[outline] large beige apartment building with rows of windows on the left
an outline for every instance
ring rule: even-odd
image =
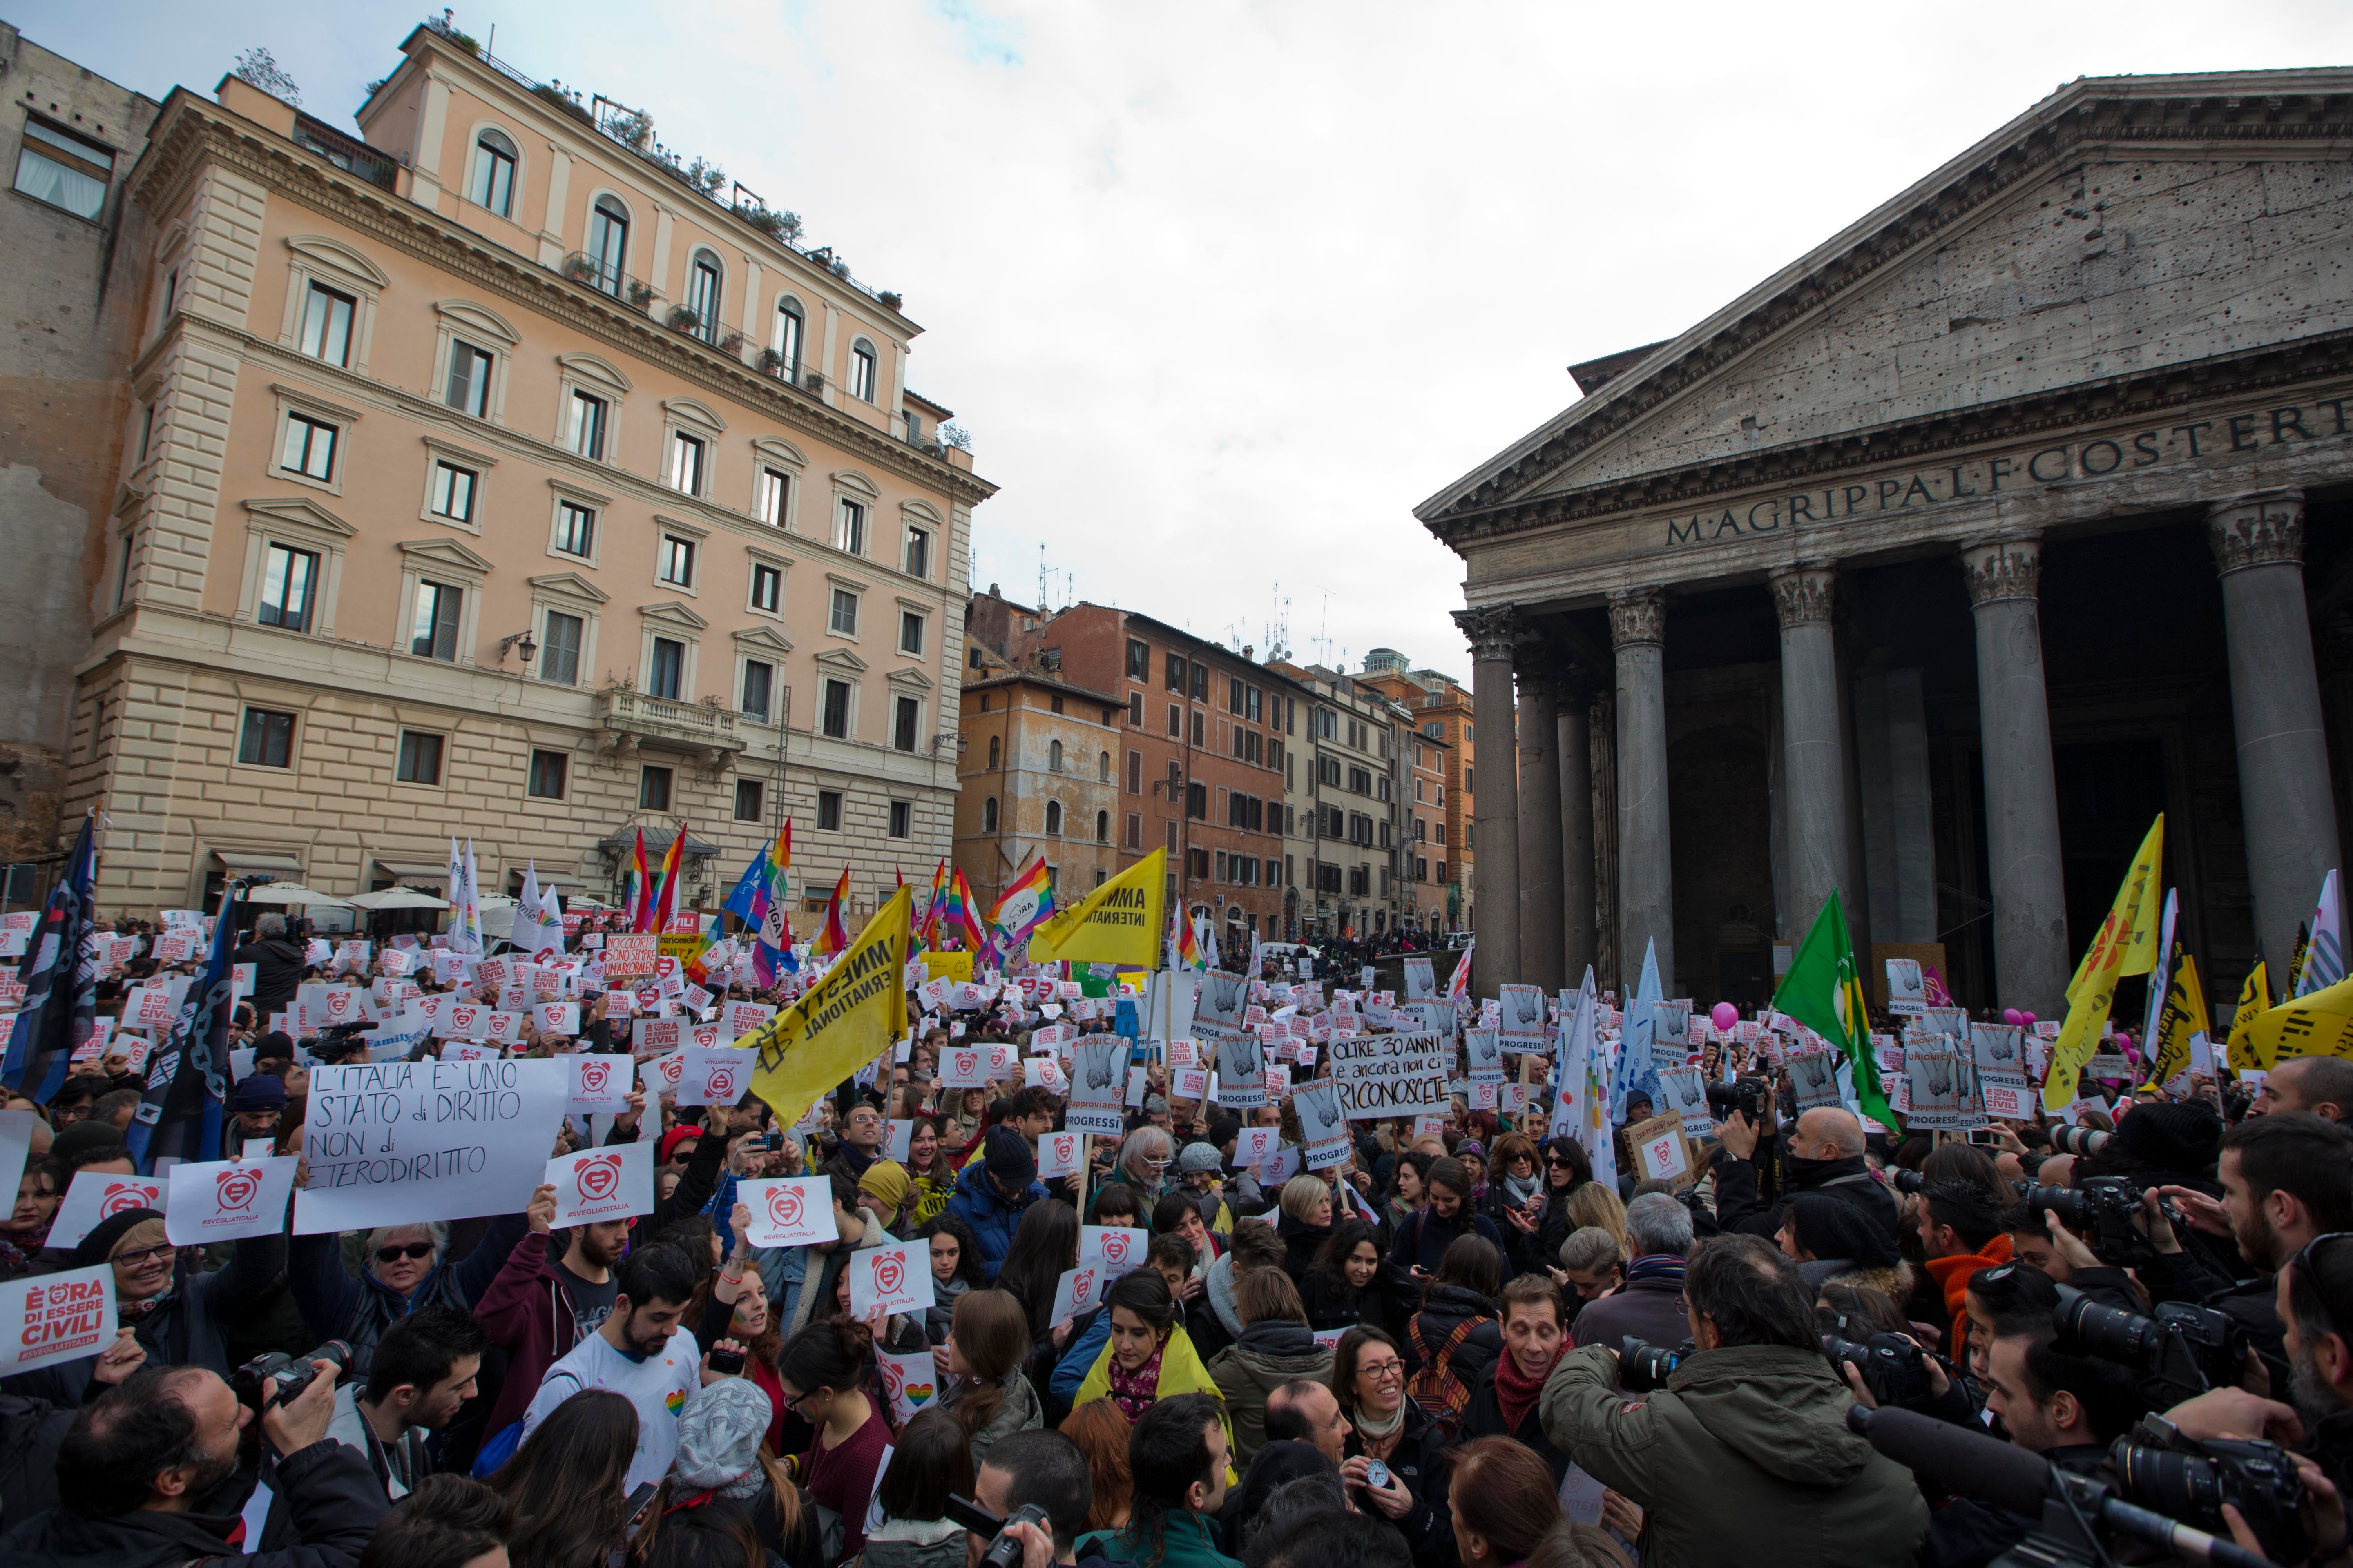
[[[920,331],[795,223],[440,26],[348,136],[176,89],[68,811],[99,900],[271,870],[715,903],[793,818],[854,914],[948,853],[972,508]],[[955,433],[948,433],[951,440]],[[496,870],[494,870],[496,867]],[[805,907],[807,907],[805,903]]]

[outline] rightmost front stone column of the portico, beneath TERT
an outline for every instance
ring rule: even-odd
[[[2238,804],[2247,823],[2254,936],[2271,985],[2287,980],[2297,922],[2339,860],[2337,799],[2320,726],[2313,625],[2304,609],[2304,491],[2273,489],[2207,510],[2231,642]]]

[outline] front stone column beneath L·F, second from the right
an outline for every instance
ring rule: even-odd
[[[1984,743],[1993,976],[2000,990],[1991,1001],[2059,1018],[2073,964],[2035,602],[2042,583],[2040,534],[1962,541],[1960,567],[1977,616],[1977,729]]]

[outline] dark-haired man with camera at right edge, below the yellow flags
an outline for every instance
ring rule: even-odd
[[[2198,1302],[2238,1321],[2271,1368],[2271,1394],[2285,1396],[2292,1368],[2278,1312],[2280,1265],[2313,1237],[2353,1229],[2353,1128],[2313,1112],[2278,1112],[2240,1121],[2221,1140],[2221,1199],[2193,1187],[2158,1187],[2141,1199],[2141,1222],[2155,1255],[2141,1267],[2153,1302]],[[2160,1208],[2238,1244],[2259,1274],[2233,1281],[2181,1246]]]

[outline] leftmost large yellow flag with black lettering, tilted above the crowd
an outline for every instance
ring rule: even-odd
[[[901,886],[809,994],[739,1041],[760,1053],[751,1091],[784,1126],[906,1034],[911,907]]]

